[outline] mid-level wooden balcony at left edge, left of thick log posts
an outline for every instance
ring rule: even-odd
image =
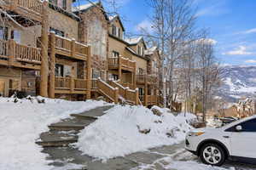
[[[41,49],[0,39],[0,65],[40,70]]]

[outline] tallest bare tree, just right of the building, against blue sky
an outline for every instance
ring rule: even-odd
[[[152,29],[150,32],[142,29],[142,32],[152,42],[157,43],[161,51],[161,91],[166,106],[166,80],[171,82],[170,96],[173,98],[174,65],[184,55],[182,47],[190,42],[195,31],[196,17],[189,0],[148,0],[148,3],[153,8],[153,15],[149,18]]]

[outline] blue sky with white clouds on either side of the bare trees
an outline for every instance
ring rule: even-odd
[[[148,27],[147,0],[117,0],[127,32]],[[208,28],[226,65],[256,65],[256,0],[195,0],[197,26]]]

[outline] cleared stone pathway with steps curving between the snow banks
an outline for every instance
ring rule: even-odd
[[[104,111],[111,107],[102,106],[80,114],[71,114],[71,118],[49,125],[49,132],[42,133],[37,144],[44,146],[43,152],[49,155],[47,159],[52,161],[49,164],[53,166],[52,170],[165,170],[165,165],[172,163],[166,161],[166,157],[171,157],[173,161],[198,161],[196,156],[183,149],[183,143],[137,152],[109,159],[107,162],[82,155],[72,145],[78,141],[79,130],[95,122],[98,116],[104,115]],[[256,166],[237,163],[234,165],[233,162],[228,162],[224,167],[236,167],[237,170],[256,169]]]

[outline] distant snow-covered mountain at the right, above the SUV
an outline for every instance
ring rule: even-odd
[[[218,96],[236,102],[242,97],[256,97],[256,66],[224,66],[223,84]]]

